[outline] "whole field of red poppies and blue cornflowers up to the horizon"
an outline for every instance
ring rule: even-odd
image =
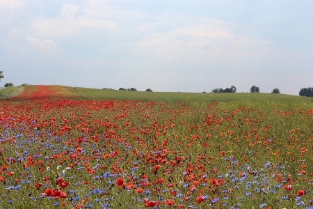
[[[312,98],[30,85],[0,98],[0,208],[313,208]]]

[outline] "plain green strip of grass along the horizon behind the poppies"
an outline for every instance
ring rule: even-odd
[[[209,102],[232,101],[300,101],[312,102],[312,98],[296,95],[273,93],[180,93],[180,92],[146,92],[146,91],[119,91],[111,89],[81,88],[59,86],[63,88],[63,95],[83,98],[84,100],[143,100],[159,102],[188,101],[193,104],[207,104]]]

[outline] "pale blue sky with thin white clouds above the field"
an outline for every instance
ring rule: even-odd
[[[298,95],[313,1],[0,0],[0,86]]]

